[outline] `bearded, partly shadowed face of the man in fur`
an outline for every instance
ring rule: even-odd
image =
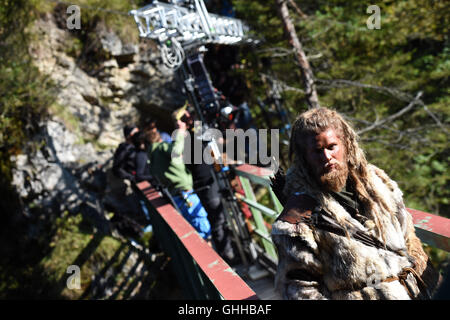
[[[345,186],[348,167],[345,146],[332,128],[306,137],[305,159],[320,185],[329,191]]]

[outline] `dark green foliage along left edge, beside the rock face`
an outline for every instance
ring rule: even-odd
[[[0,191],[17,199],[10,187],[10,158],[21,151],[45,117],[53,99],[51,83],[33,66],[25,31],[36,18],[36,1],[0,0]],[[1,204],[17,210],[17,201]]]

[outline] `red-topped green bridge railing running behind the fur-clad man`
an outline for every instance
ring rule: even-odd
[[[256,227],[255,234],[262,237],[266,253],[272,256],[274,248],[270,236],[268,236],[269,231],[267,225],[260,221],[258,222],[258,220],[261,219],[262,215],[267,216],[269,219],[273,219],[277,217],[283,209],[270,188],[269,177],[273,173],[268,169],[248,164],[240,165],[234,168],[234,171],[236,175],[239,176],[245,191],[245,196],[236,194],[236,197],[252,208],[254,225]],[[267,208],[256,201],[252,184],[264,186],[268,189],[275,210]],[[416,234],[422,242],[432,247],[450,252],[450,219],[415,209],[407,208],[407,210],[413,218]]]

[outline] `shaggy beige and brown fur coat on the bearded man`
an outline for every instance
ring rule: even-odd
[[[286,177],[285,194],[307,194],[330,212],[336,221],[345,221],[376,236],[371,220],[362,225],[334,198],[310,187],[306,179],[302,180],[301,174],[290,171]],[[306,223],[293,224],[278,219],[272,226],[271,235],[279,257],[275,285],[284,299],[409,300],[411,296],[423,299],[433,293],[439,273],[432,268],[415,235],[412,217],[403,204],[402,192],[381,169],[369,165],[369,172],[378,194],[383,195],[392,213],[390,217],[383,215],[381,223],[386,245],[396,252],[368,246]],[[374,210],[379,210],[377,205]],[[404,284],[398,278],[392,279],[403,268],[413,266],[426,283],[426,290],[421,290],[418,280],[411,273],[408,273]],[[389,278],[390,281],[386,281]]]

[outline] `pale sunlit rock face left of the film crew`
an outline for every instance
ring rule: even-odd
[[[104,200],[114,206],[108,170],[123,140],[122,128],[147,116],[168,124],[167,116],[184,103],[179,80],[162,66],[154,44],[124,43],[101,25],[78,54],[73,48],[81,40],[59,28],[50,14],[32,32],[36,40],[30,53],[54,83],[56,102],[33,138],[40,149],[13,159],[13,184],[24,203],[56,214],[83,212],[109,232]],[[88,61],[95,68],[86,68],[89,59],[82,57],[90,47],[98,49],[95,60]]]

